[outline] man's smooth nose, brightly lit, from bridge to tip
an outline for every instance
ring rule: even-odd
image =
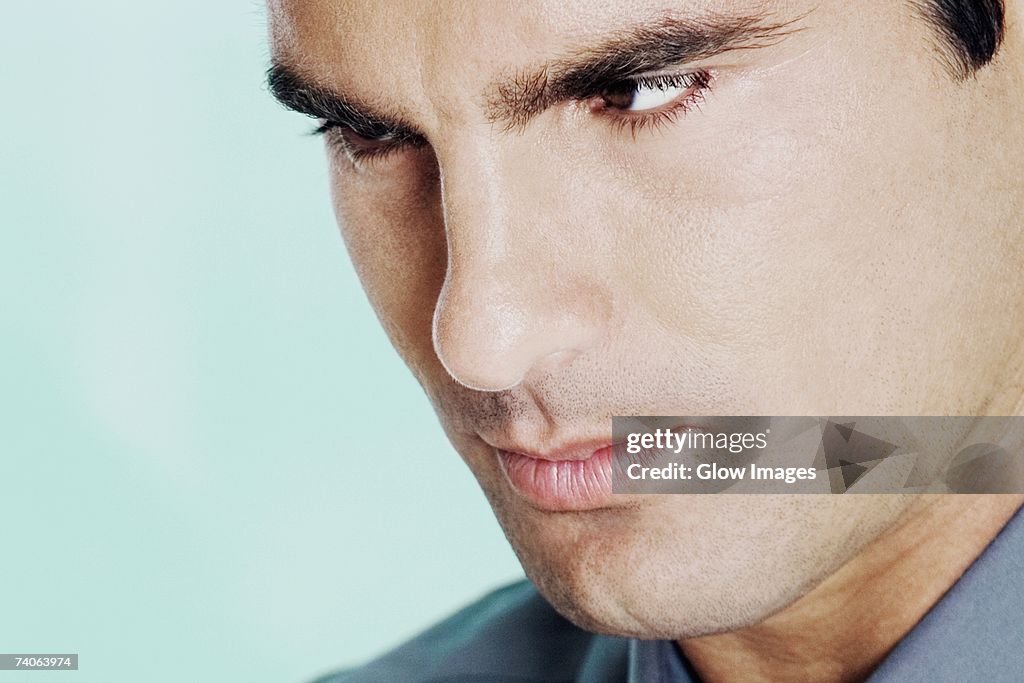
[[[605,333],[610,299],[599,250],[588,249],[595,226],[579,224],[571,183],[537,159],[463,148],[441,163],[449,258],[434,350],[472,389],[554,372]]]

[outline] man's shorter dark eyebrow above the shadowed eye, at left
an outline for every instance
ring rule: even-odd
[[[288,109],[351,128],[365,137],[416,134],[400,118],[319,86],[283,62],[274,61],[267,70],[266,84],[270,94]]]

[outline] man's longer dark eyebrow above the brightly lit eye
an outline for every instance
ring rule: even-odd
[[[492,123],[518,128],[555,102],[593,97],[616,81],[737,49],[767,47],[798,31],[806,14],[772,23],[766,14],[683,18],[662,15],[615,32],[597,45],[492,84]]]

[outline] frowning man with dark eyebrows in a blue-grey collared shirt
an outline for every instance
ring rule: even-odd
[[[1019,680],[1021,496],[595,463],[616,415],[1021,414],[1024,3],[269,9],[271,89],[531,583],[329,680]]]

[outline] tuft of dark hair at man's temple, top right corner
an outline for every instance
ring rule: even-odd
[[[944,61],[957,78],[987,65],[1002,42],[1002,0],[919,0],[942,37]]]

